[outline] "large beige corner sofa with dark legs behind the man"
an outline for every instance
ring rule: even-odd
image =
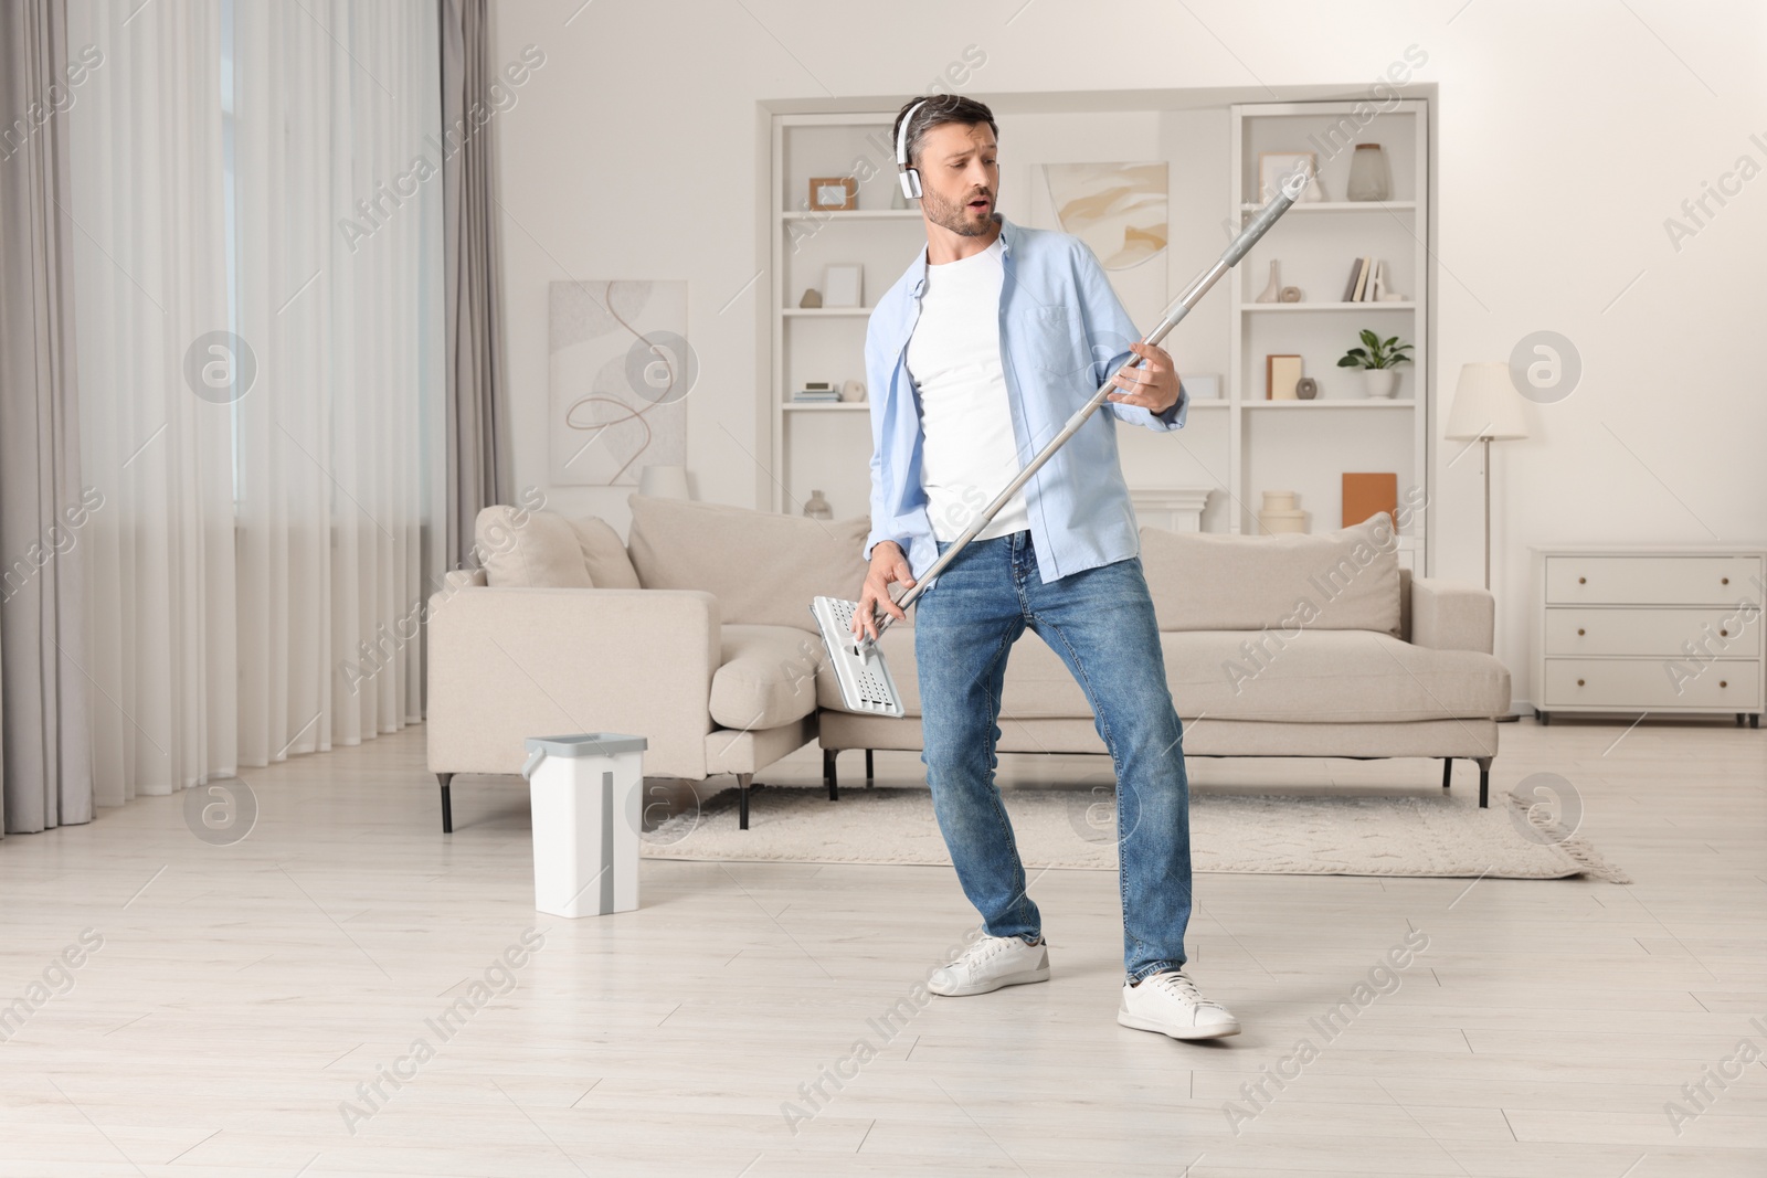
[[[912,613],[884,634],[906,719],[841,706],[809,599],[853,599],[864,519],[813,521],[633,496],[629,542],[599,519],[491,507],[484,567],[429,602],[429,768],[452,828],[456,774],[516,774],[527,736],[626,731],[647,777],[756,772],[818,740],[829,797],[845,749],[919,749]],[[1189,756],[1442,758],[1488,804],[1509,671],[1488,592],[1412,578],[1387,517],[1329,535],[1141,530]],[[1097,752],[1080,687],[1035,636],[1002,692],[1002,752]]]

